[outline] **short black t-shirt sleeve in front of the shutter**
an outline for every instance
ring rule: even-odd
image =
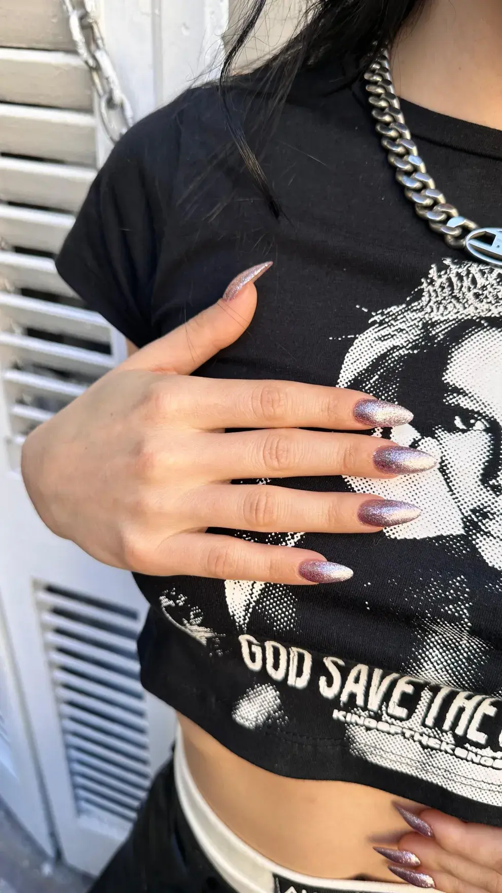
[[[60,276],[85,304],[138,347],[155,337],[151,300],[165,216],[158,188],[149,185],[155,183],[155,170],[147,162],[162,163],[164,176],[165,171],[175,176],[175,115],[165,129],[162,159],[151,143],[155,114],[121,138],[56,258]]]

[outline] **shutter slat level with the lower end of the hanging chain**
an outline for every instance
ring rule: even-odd
[[[96,121],[87,112],[0,103],[0,133],[4,153],[96,163]]]

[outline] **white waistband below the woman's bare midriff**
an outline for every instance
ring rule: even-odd
[[[416,887],[409,884],[381,883],[372,880],[330,880],[312,878],[306,874],[290,872],[257,853],[239,839],[206,803],[188,769],[183,739],[179,732],[174,751],[174,779],[181,808],[188,825],[211,864],[223,880],[237,893],[277,893],[274,875],[291,881],[288,893],[305,893],[304,888],[314,890],[345,890],[347,893],[412,893]]]

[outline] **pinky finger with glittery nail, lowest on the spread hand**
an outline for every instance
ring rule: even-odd
[[[328,562],[317,552],[287,546],[264,546],[213,533],[182,533],[166,543],[170,574],[219,580],[262,580],[292,585],[338,583],[353,571]],[[159,555],[156,556],[157,560]]]

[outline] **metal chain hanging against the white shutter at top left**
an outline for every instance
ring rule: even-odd
[[[132,125],[130,103],[121,91],[117,72],[106,52],[103,35],[88,0],[84,0],[84,6],[74,6],[73,0],[62,2],[77,53],[91,73],[99,100],[99,117],[108,137],[116,143]]]

